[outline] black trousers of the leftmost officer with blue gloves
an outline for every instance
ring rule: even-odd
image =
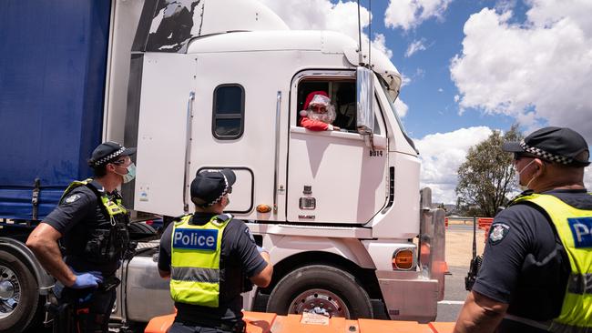
[[[58,298],[62,314],[54,319],[54,333],[107,333],[116,289],[64,288]]]

